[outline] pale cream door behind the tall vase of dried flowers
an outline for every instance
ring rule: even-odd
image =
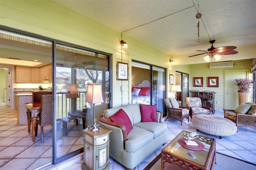
[[[248,78],[249,69],[224,71],[224,109],[236,109],[238,107],[238,92],[234,83],[235,79]]]

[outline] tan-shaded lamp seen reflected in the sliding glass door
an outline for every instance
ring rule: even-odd
[[[78,86],[77,84],[68,84],[67,98],[71,99],[71,112],[76,111],[76,98],[78,98]]]

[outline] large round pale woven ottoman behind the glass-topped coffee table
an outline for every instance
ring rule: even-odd
[[[191,120],[197,131],[202,131],[208,134],[222,136],[230,136],[237,131],[236,124],[232,121],[213,115],[195,115]]]

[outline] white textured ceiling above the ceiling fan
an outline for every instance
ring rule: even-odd
[[[256,44],[255,0],[58,0],[170,55]],[[200,42],[198,43],[198,19]],[[129,45],[129,42],[127,42]]]

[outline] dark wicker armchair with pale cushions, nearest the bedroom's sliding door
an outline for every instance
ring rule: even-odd
[[[167,119],[176,119],[181,122],[180,126],[182,126],[182,121],[184,118],[187,118],[189,121],[189,107],[186,106],[178,106],[178,102],[175,98],[164,98],[164,103],[167,109]]]

